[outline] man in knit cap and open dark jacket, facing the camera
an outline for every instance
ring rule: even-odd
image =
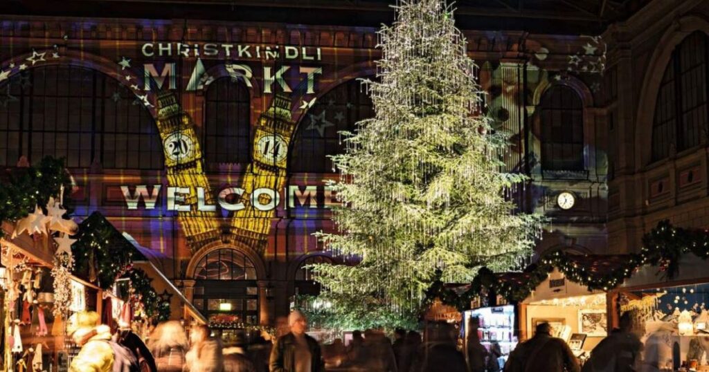
[[[271,372],[325,371],[320,345],[308,336],[308,319],[294,310],[288,316],[291,332],[279,337],[271,351]]]

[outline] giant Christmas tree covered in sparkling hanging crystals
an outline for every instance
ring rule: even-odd
[[[320,303],[355,322],[415,319],[437,276],[464,283],[481,266],[517,267],[540,234],[540,216],[510,201],[525,177],[501,171],[508,135],[481,114],[484,93],[450,6],[401,0],[396,11],[379,33],[377,79],[364,81],[376,115],[343,133],[346,151],[333,157],[337,232],[317,234],[358,262],[313,266]]]

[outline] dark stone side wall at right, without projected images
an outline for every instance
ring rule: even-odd
[[[709,4],[654,1],[604,33],[616,94],[608,121],[608,249],[634,252],[660,220],[709,225]]]

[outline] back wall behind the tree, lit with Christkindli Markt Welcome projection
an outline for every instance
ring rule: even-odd
[[[627,89],[610,89],[625,72],[609,75],[605,35],[466,35],[511,134],[506,167],[530,176],[520,209],[552,221],[537,250],[620,250],[606,181],[610,137],[625,137],[607,128]],[[0,166],[66,157],[75,216],[99,210],[154,250],[213,321],[275,324],[317,291],[303,265],[341,261],[312,234],[333,229],[338,131],[374,114],[357,79],[375,77],[376,42],[371,28],[8,16]]]

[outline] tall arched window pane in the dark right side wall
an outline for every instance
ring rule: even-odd
[[[699,145],[706,135],[709,113],[707,77],[709,37],[695,32],[672,52],[662,76],[652,123],[652,159]]]

